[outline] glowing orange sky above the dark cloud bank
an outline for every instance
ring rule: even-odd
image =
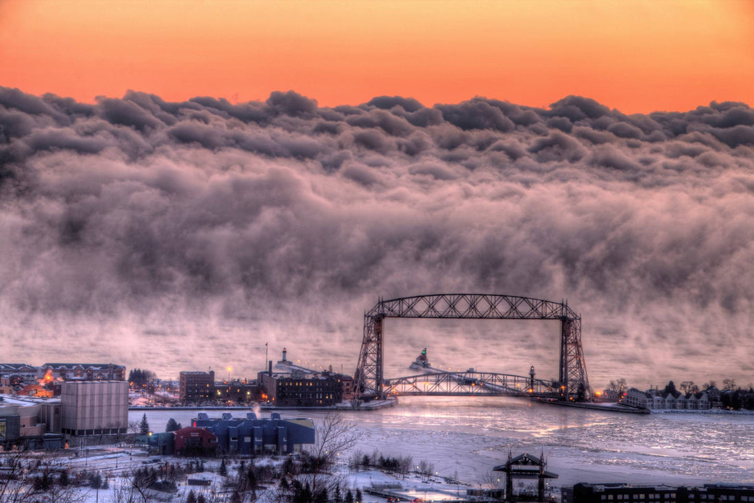
[[[0,0],[0,85],[87,102],[754,104],[754,2]]]

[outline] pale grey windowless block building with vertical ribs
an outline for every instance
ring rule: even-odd
[[[64,382],[60,395],[60,431],[70,435],[126,433],[128,383],[125,381]]]

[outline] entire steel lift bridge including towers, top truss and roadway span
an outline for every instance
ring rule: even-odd
[[[557,382],[499,373],[438,372],[385,379],[385,318],[452,318],[559,320],[560,358]],[[354,396],[382,400],[389,395],[527,395],[558,400],[589,400],[587,365],[581,349],[581,317],[566,302],[483,293],[441,293],[383,300],[364,314],[364,336]]]

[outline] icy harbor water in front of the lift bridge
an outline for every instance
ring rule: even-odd
[[[190,424],[201,409],[146,413],[153,431],[173,417]],[[206,411],[210,417],[222,411]],[[234,409],[234,416],[247,411]],[[285,417],[325,412],[283,410]],[[262,413],[266,416],[268,412]],[[754,483],[754,415],[714,413],[621,414],[532,403],[513,397],[403,397],[369,412],[346,411],[366,454],[411,455],[441,477],[497,483],[495,465],[513,455],[544,453],[555,485],[578,482],[701,484]],[[343,452],[345,462],[352,452]]]

